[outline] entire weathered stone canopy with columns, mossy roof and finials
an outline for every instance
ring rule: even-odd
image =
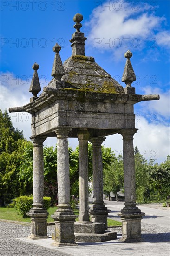
[[[78,138],[79,141],[79,221],[81,223],[75,224],[77,225],[75,230],[78,232],[81,229],[79,233],[82,233],[82,230],[98,230],[98,234],[104,233],[107,229],[108,209],[103,201],[101,144],[105,141],[105,136],[119,133],[123,137],[124,147],[125,206],[119,213],[123,222],[122,241],[139,242],[142,241],[141,218],[145,214],[141,213],[135,202],[133,135],[137,129],[135,129],[133,106],[140,101],[159,100],[159,95],[135,94],[135,88],[131,84],[136,80],[136,76],[131,65],[130,51],[124,54],[127,59],[122,76],[122,81],[126,84],[125,88],[100,67],[93,57],[85,56],[86,38],[84,33],[80,32],[83,16],[78,13],[73,20],[76,22],[74,25],[76,32],[72,34],[70,40],[72,56],[63,64],[59,55],[61,47],[56,44],[53,47],[55,57],[52,81],[43,88],[43,92],[38,97],[37,94],[41,90],[37,73],[39,65],[35,63],[29,90],[33,93],[33,97],[25,106],[9,108],[9,112],[24,111],[32,114],[34,202],[33,208],[28,213],[32,219],[30,238],[47,237],[48,213],[43,206],[43,142],[47,137],[56,136],[59,204],[52,215],[55,221],[53,244],[75,245],[75,237],[77,237],[76,241],[90,239],[90,235],[87,234],[74,237],[76,216],[70,208],[68,137]],[[94,202],[90,210],[88,208],[88,141],[92,142],[93,146]],[[84,225],[83,229],[82,225]],[[97,239],[94,234],[92,236]],[[103,239],[102,236],[98,237]],[[105,234],[106,240],[113,237],[115,234]]]

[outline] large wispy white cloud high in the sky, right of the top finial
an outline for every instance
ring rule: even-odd
[[[168,46],[169,33],[162,31],[162,24],[166,21],[164,17],[147,11],[147,3],[144,2],[139,2],[138,8],[131,2],[126,2],[126,7],[123,0],[118,2],[119,8],[108,1],[93,10],[90,21],[85,24],[90,31],[89,45],[111,50],[116,57],[128,48],[133,48],[133,51],[146,48],[149,42]]]

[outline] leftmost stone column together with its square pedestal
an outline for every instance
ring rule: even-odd
[[[44,194],[44,161],[43,142],[46,137],[31,137],[33,141],[33,207],[27,213],[31,217],[31,239],[48,238],[47,216],[48,212],[43,206]]]

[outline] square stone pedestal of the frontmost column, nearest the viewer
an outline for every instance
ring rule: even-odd
[[[60,205],[61,207],[61,205]],[[63,207],[63,206],[62,206]],[[74,222],[77,215],[74,215],[70,206],[66,205],[62,209],[57,209],[51,217],[55,221],[55,242],[52,244],[55,246],[68,246],[75,244],[74,241]],[[62,211],[64,210],[64,211]]]

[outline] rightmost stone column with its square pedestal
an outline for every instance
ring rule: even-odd
[[[142,213],[135,202],[135,160],[133,148],[133,135],[137,129],[123,129],[119,133],[123,136],[124,160],[124,208],[118,213],[122,219],[122,239],[124,242],[141,242]]]

